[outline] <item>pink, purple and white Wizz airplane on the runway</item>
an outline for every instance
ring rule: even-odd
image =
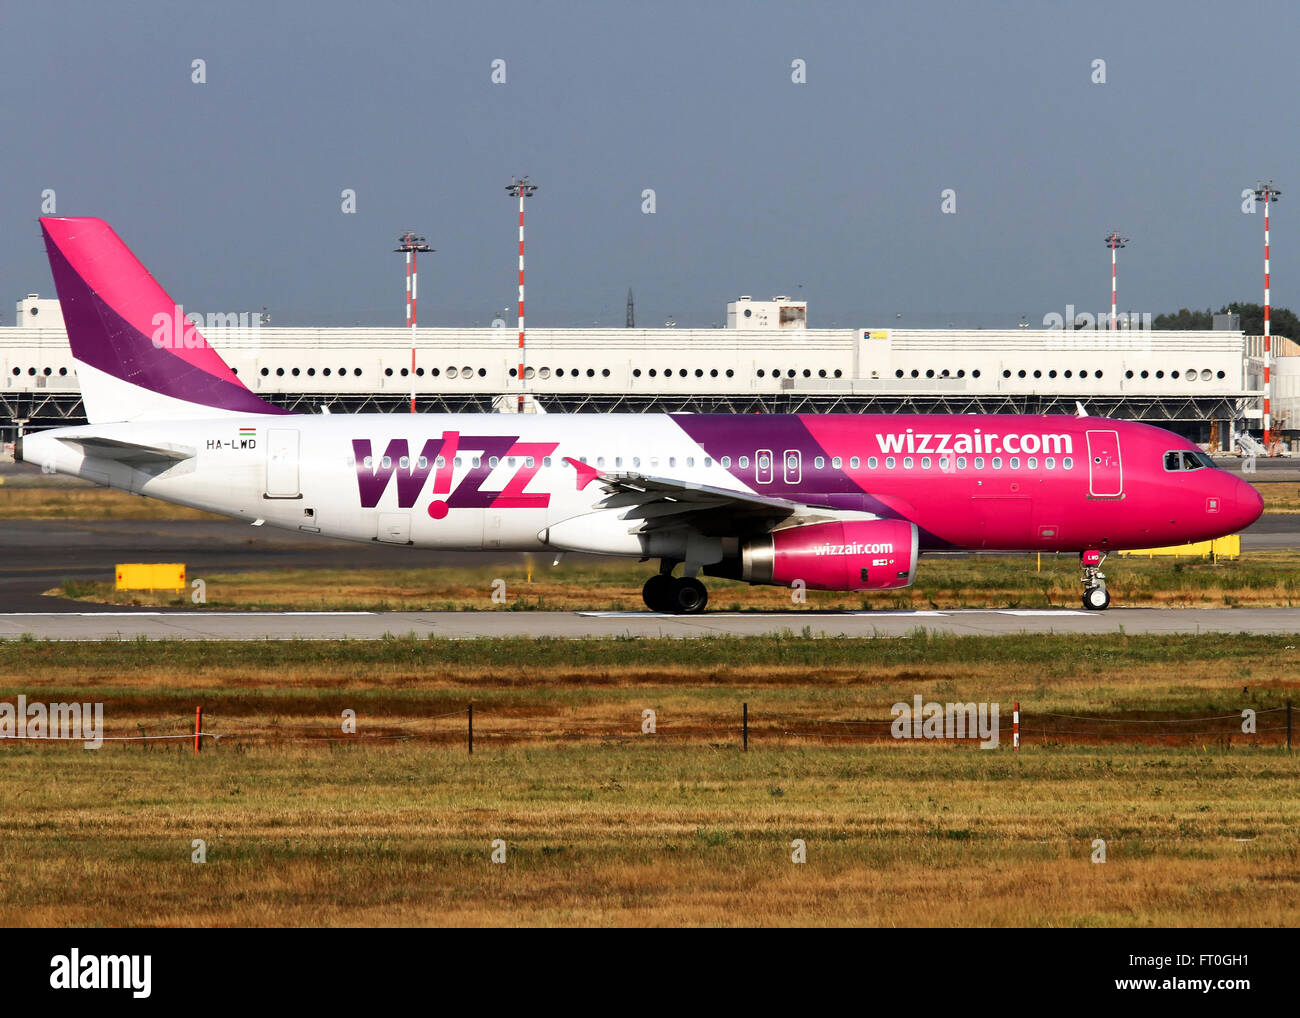
[[[178,306],[108,224],[40,224],[90,424],[29,434],[20,458],[252,524],[658,559],[646,606],[681,614],[703,611],[701,575],[890,590],[922,551],[1065,551],[1105,608],[1108,553],[1262,511],[1191,442],[1101,417],[291,413],[172,328]]]

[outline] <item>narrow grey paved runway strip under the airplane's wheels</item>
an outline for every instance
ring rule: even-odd
[[[86,607],[86,606],[81,606]],[[416,637],[815,636],[822,638],[907,637],[919,631],[958,636],[1011,633],[1300,633],[1290,608],[1110,608],[1104,612],[1043,611],[861,611],[861,612],[218,612],[58,611],[0,615],[0,638],[18,640],[382,640]],[[1297,637],[1300,642],[1300,637]]]

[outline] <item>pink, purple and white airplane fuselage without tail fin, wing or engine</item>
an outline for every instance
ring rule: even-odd
[[[105,442],[176,459],[117,456]],[[1191,442],[1100,417],[228,416],[42,432],[22,455],[237,519],[441,549],[640,554],[594,528],[588,542],[551,538],[550,528],[601,510],[597,475],[901,519],[928,550],[1150,547],[1234,533],[1262,508]]]

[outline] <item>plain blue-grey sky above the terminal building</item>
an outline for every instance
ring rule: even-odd
[[[1297,22],[1180,0],[8,0],[0,296],[52,294],[53,189],[190,309],[398,325],[411,228],[438,248],[421,324],[486,325],[514,307],[503,189],[528,173],[538,328],[623,325],[629,286],[638,325],[722,322],[741,293],[802,295],[814,326],[1039,325],[1109,308],[1112,229],[1121,309],[1260,300],[1240,191],[1271,177],[1273,298],[1295,307]]]

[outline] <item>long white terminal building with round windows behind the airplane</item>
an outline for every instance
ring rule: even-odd
[[[269,328],[205,321],[260,397],[302,412],[1075,413],[1231,450],[1262,429],[1262,339],[1239,330],[810,329],[807,306],[741,296],[725,329]],[[1300,438],[1300,347],[1274,339],[1273,428]],[[84,420],[58,302],[0,328],[8,432]]]

